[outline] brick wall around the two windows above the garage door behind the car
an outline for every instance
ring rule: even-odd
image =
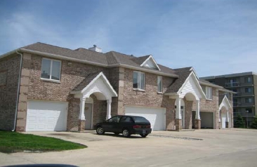
[[[173,79],[163,76],[163,92],[171,85]],[[173,129],[175,125],[175,100],[169,96],[157,93],[157,74],[145,73],[145,92],[133,90],[133,70],[125,69],[124,72],[124,106],[136,105],[142,107],[165,107],[166,127]]]

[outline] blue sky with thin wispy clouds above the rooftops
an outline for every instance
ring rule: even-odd
[[[38,41],[152,54],[198,76],[257,72],[257,1],[1,0],[0,55]]]

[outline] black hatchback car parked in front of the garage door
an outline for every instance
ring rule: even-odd
[[[124,137],[132,134],[139,134],[145,138],[152,132],[150,122],[143,116],[117,115],[107,121],[95,125],[96,133],[103,135],[105,132],[112,132],[116,135],[122,133]]]

